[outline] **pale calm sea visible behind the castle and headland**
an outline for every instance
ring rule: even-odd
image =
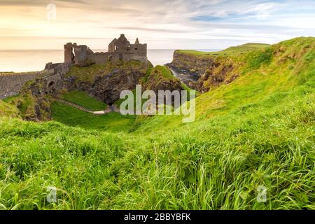
[[[106,52],[106,50],[94,50],[94,52]],[[172,49],[151,49],[148,50],[148,59],[154,66],[163,65],[172,62],[173,54]],[[0,50],[0,71],[41,71],[48,62],[63,61],[63,50]]]

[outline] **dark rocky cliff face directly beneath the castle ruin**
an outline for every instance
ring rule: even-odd
[[[64,77],[67,90],[81,90],[106,104],[113,104],[123,90],[134,90],[152,64],[125,62],[123,64],[73,67]]]

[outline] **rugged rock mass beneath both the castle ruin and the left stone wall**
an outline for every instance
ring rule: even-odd
[[[46,70],[59,67],[50,63]],[[70,70],[65,70],[69,72],[57,72],[27,82],[9,103],[19,109],[23,119],[33,121],[50,120],[50,105],[64,91],[81,90],[111,105],[123,90],[134,90],[151,67],[150,63],[142,62],[69,67]]]

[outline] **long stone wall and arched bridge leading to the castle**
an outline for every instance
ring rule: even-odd
[[[48,86],[55,90],[59,89],[61,76],[69,71],[71,63],[48,63],[43,71],[24,73],[0,73],[0,99],[12,97],[20,93],[20,90],[30,80],[44,78]]]

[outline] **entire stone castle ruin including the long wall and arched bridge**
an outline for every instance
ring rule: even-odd
[[[45,80],[47,83],[46,89],[60,90],[62,89],[62,76],[69,71],[73,64],[84,64],[84,62],[88,62],[87,64],[105,64],[107,62],[129,62],[131,60],[147,63],[146,50],[147,45],[139,43],[138,38],[134,44],[130,44],[124,34],[109,43],[108,52],[93,52],[87,45],[66,43],[64,45],[63,63],[48,63],[43,71],[0,75],[0,99],[18,94],[25,83],[36,78]]]

